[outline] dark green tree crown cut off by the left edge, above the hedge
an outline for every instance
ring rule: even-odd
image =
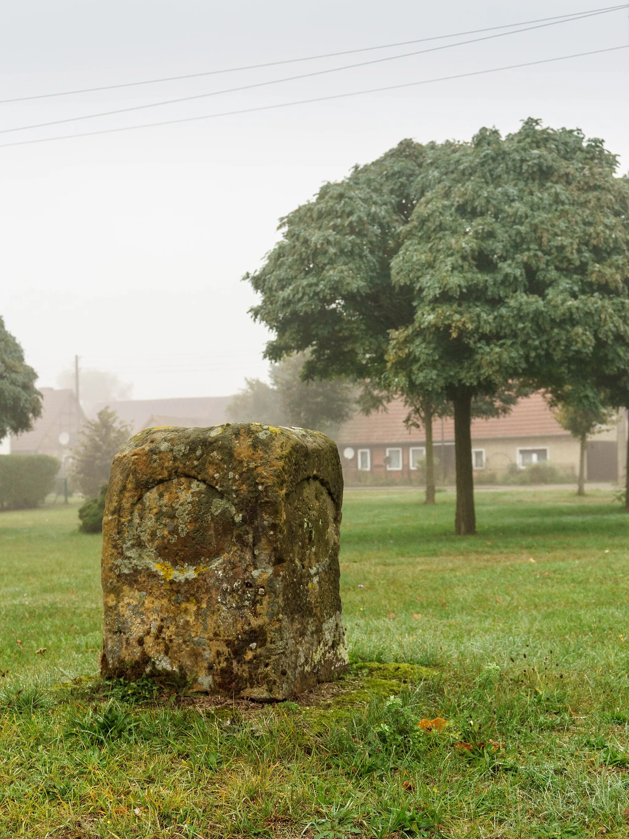
[[[0,317],[0,440],[33,427],[41,416],[42,395],[35,388],[37,373],[24,363],[22,347]]]

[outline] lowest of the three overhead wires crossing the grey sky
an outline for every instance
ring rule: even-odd
[[[367,93],[381,93],[383,91],[396,91],[403,87],[414,87],[418,85],[429,85],[436,81],[453,81],[455,79],[465,79],[469,76],[484,76],[487,73],[498,73],[502,70],[517,70],[522,67],[533,67],[534,65],[550,64],[554,61],[564,61],[572,58],[585,58],[586,55],[600,55],[602,53],[615,52],[616,50],[626,50],[629,44],[621,44],[617,47],[607,47],[605,50],[590,50],[590,52],[573,53],[572,55],[558,55],[555,58],[545,58],[537,61],[525,61],[522,64],[510,64],[503,67],[492,67],[491,70],[472,70],[469,73],[456,73],[453,76],[438,76],[434,79],[422,79],[420,81],[407,81],[400,85],[387,85],[385,87],[370,87],[364,91],[351,91],[350,93],[335,93],[331,96],[316,96],[312,99],[298,99],[294,102],[279,102],[276,105],[260,105],[257,107],[241,108],[237,111],[223,111],[218,113],[208,113],[201,117],[183,117],[181,119],[167,119],[162,122],[143,122],[141,125],[129,125],[123,128],[102,128],[99,131],[86,131],[78,134],[60,134],[57,137],[43,137],[34,140],[18,140],[15,143],[0,143],[0,149],[8,149],[11,146],[28,146],[34,143],[51,143],[55,140],[69,140],[79,137],[95,137],[97,134],[114,134],[122,131],[137,131],[138,128],[159,128],[164,125],[177,125],[180,122],[199,122],[203,119],[217,119],[218,117],[234,117],[245,113],[254,113],[260,111],[272,111],[277,108],[292,107],[294,105],[309,105],[313,102],[329,102],[333,99],[346,99],[349,96],[364,96]]]

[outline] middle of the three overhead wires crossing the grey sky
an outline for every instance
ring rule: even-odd
[[[620,8],[627,8],[626,6]],[[30,125],[20,125],[17,128],[3,128],[0,134],[10,134],[16,131],[28,131],[32,128],[50,128],[53,125],[64,125],[68,122],[81,122],[86,119],[96,119],[98,117],[113,117],[120,113],[129,113],[133,111],[144,111],[151,107],[164,107],[166,105],[176,105],[181,102],[194,102],[196,99],[206,99],[210,96],[221,96],[224,93],[237,93],[239,91],[250,91],[258,87],[268,87],[271,85],[278,85],[285,81],[299,81],[301,79],[314,78],[314,76],[327,76],[330,73],[338,73],[340,70],[353,70],[356,67],[366,67],[375,64],[383,64],[387,61],[394,61],[401,58],[409,58],[414,55],[425,55],[426,53],[437,52],[439,50],[450,50],[454,47],[465,46],[466,44],[477,44],[481,41],[488,41],[496,38],[504,38],[507,35],[515,35],[522,32],[531,32],[534,29],[544,29],[548,26],[557,26],[559,23],[572,23],[573,21],[584,20],[585,18],[592,18],[603,12],[591,12],[582,14],[579,17],[569,18],[569,20],[554,20],[551,23],[538,23],[535,26],[528,26],[524,29],[512,29],[510,32],[500,32],[492,35],[484,35],[482,38],[473,38],[466,41],[456,41],[454,44],[441,44],[438,47],[429,47],[426,50],[413,50],[413,52],[402,53],[400,55],[388,55],[385,58],[377,58],[369,61],[361,61],[358,64],[347,64],[341,67],[330,67],[326,70],[314,70],[311,73],[302,73],[299,76],[284,76],[282,79],[272,79],[270,81],[257,81],[252,85],[242,85],[238,87],[228,87],[221,91],[210,91],[209,93],[197,93],[194,96],[180,96],[176,99],[165,99],[161,102],[149,102],[146,105],[133,105],[131,107],[116,108],[112,111],[101,111],[97,113],[84,114],[81,117],[65,117],[65,119],[49,120],[48,122],[34,122]]]

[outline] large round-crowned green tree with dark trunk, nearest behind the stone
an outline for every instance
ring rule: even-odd
[[[387,357],[453,403],[457,533],[476,529],[473,399],[518,379],[564,387],[612,349],[629,368],[626,185],[615,169],[602,141],[532,119],[427,155],[392,261],[413,322],[392,332]]]

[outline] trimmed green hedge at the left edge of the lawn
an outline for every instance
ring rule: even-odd
[[[0,456],[0,509],[37,507],[55,489],[60,466],[49,455]]]

